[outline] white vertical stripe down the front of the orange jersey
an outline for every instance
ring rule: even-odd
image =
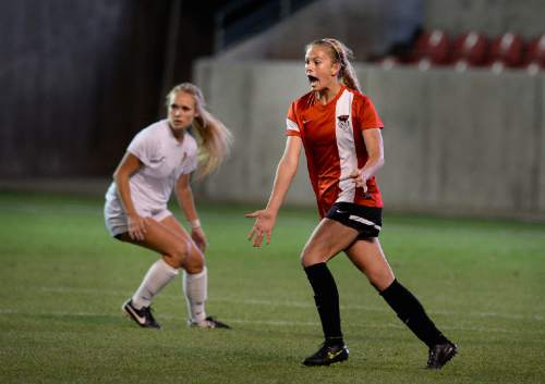
[[[339,150],[339,160],[341,175],[339,178],[339,197],[336,202],[354,202],[355,184],[349,175],[358,169],[358,154],[355,152],[354,134],[352,125],[352,100],[354,95],[344,89],[341,97],[337,100],[335,110],[335,134],[337,137],[337,149]]]

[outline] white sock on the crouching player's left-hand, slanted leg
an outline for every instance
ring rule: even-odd
[[[134,308],[149,307],[154,297],[177,275],[178,270],[165,260],[159,259],[153,263],[132,297]]]

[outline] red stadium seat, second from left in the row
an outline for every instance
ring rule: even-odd
[[[477,33],[469,32],[455,40],[452,61],[459,71],[468,66],[483,66],[488,59],[488,39]]]

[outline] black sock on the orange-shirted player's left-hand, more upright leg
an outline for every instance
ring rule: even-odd
[[[331,272],[329,272],[325,262],[306,267],[304,270],[314,289],[314,300],[318,309],[326,343],[342,344],[339,293]]]

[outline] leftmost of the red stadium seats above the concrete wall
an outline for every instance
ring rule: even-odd
[[[413,61],[419,66],[446,65],[450,61],[450,39],[440,29],[425,32],[414,45]]]

